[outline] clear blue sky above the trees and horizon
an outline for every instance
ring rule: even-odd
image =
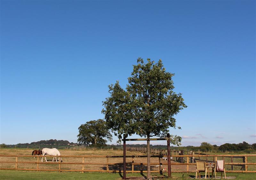
[[[188,108],[170,132],[183,146],[255,143],[255,5],[1,1],[0,143],[76,142],[81,124],[104,118],[108,85],[125,88],[138,57],[175,73]]]

